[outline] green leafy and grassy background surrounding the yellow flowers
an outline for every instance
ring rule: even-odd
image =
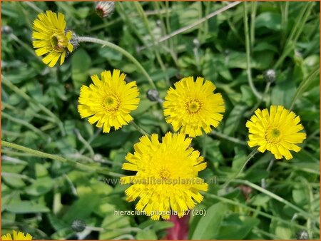
[[[168,83],[183,76],[204,76],[223,93],[222,123],[205,140],[193,140],[208,162],[201,176],[215,177],[217,183],[195,208],[207,214],[190,217],[190,238],[294,239],[303,230],[310,238],[319,238],[319,3],[248,3],[248,19],[241,3],[158,46],[140,48],[225,5],[121,2],[102,20],[93,2],[2,3],[1,139],[69,160],[1,148],[3,234],[16,229],[36,239],[160,239],[173,226],[144,216],[113,215],[115,209],[134,210],[134,204],[125,201],[127,187],[107,185],[106,178],[124,174],[121,164],[141,134],[132,125],[103,134],[76,110],[79,88],[90,83],[90,75],[119,68],[128,80],[138,82],[141,91],[141,103],[133,113],[136,123],[148,133],[163,135],[170,127],[161,106],[146,98],[151,86],[128,58],[93,43],[81,43],[61,67],[45,66],[32,48],[31,26],[39,12],[50,9],[65,14],[68,28],[79,36],[106,39],[133,54],[161,98]],[[140,6],[147,22],[139,14]],[[290,108],[296,96],[292,107],[301,117],[307,140],[290,161],[274,160],[270,153],[255,155],[238,179],[223,188],[251,152],[245,143],[245,122],[258,103],[248,84],[244,20],[249,24],[255,87],[265,91],[267,69],[274,68],[277,76],[259,107]],[[75,163],[99,171],[81,170]],[[74,220],[89,227],[76,233],[71,227]]]

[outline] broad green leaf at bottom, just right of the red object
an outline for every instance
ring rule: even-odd
[[[192,240],[214,240],[218,237],[218,230],[226,212],[226,205],[218,202],[206,210],[206,215],[200,220],[192,235]]]

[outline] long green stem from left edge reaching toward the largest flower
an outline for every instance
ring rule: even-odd
[[[89,166],[89,165],[84,165],[82,163],[77,163],[76,161],[68,160],[66,158],[63,158],[60,155],[52,155],[52,154],[49,154],[49,153],[43,153],[42,151],[34,150],[34,149],[31,149],[31,148],[26,148],[26,147],[24,147],[22,145],[17,145],[15,143],[10,143],[10,142],[5,141],[5,140],[1,140],[1,145],[5,146],[7,148],[13,148],[13,149],[16,149],[16,150],[21,150],[24,153],[31,153],[31,154],[39,157],[39,158],[49,158],[51,160],[58,160],[61,163],[68,163],[69,165],[71,165],[71,166],[73,166],[75,168],[79,168],[81,170],[92,171],[92,172],[100,173],[100,174],[103,174],[103,175],[110,175],[110,176],[116,177],[116,178],[119,178],[119,177],[123,176],[122,174],[113,173],[113,172],[110,172],[110,171],[108,171],[106,169],[103,169],[101,167],[93,167],[93,166]]]

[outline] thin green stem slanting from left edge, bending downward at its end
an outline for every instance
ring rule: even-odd
[[[52,113],[48,108],[46,108],[46,106],[44,106],[41,103],[39,103],[38,101],[36,101],[36,99],[28,96],[24,91],[21,90],[21,88],[16,87],[13,83],[8,81],[2,75],[1,75],[1,81],[2,81],[1,83],[4,83],[4,85],[8,86],[11,89],[11,91],[14,91],[16,94],[18,94],[19,96],[24,98],[26,101],[34,103],[36,106],[38,106],[39,109],[41,109],[41,111],[44,111],[44,113],[46,113],[48,116],[51,116],[51,118],[54,118],[58,127],[61,130],[61,134],[63,136],[66,135],[66,132],[65,132],[65,129],[63,128],[63,123],[61,122],[61,120],[59,120],[59,118],[54,113]]]

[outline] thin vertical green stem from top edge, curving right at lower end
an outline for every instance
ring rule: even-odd
[[[243,5],[243,18],[244,18],[244,35],[245,35],[245,48],[246,48],[246,73],[248,74],[248,84],[250,85],[250,88],[252,92],[254,93],[255,97],[260,99],[262,98],[261,94],[258,93],[256,90],[253,79],[252,79],[252,73],[251,73],[251,63],[250,63],[250,39],[249,39],[249,31],[248,31],[248,9],[246,5],[246,1]]]

